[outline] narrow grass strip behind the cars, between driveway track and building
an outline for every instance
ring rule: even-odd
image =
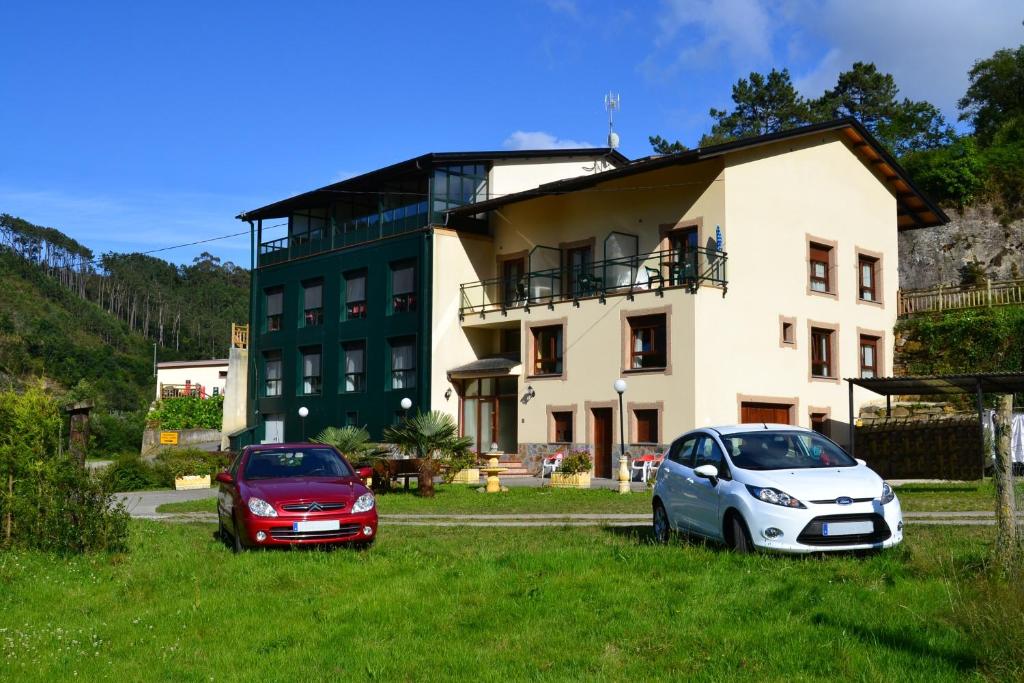
[[[472,486],[442,485],[433,499],[421,499],[413,492],[398,490],[377,497],[381,514],[509,512],[572,513],[650,512],[650,494],[621,496],[604,488],[574,490],[566,488],[513,487],[501,496],[478,494]],[[1024,500],[1024,484],[1018,486]],[[903,484],[896,489],[904,512],[995,509],[995,488],[990,479],[965,483]],[[216,512],[215,499],[167,503],[158,512]]]

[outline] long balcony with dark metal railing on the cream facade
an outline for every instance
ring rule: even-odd
[[[550,249],[542,247],[539,249]],[[557,251],[557,250],[552,250]],[[609,296],[632,299],[641,292],[660,296],[667,289],[695,293],[701,286],[721,288],[725,295],[728,255],[714,249],[655,251],[595,261],[585,266],[530,270],[518,278],[493,278],[460,286],[459,317],[530,306],[554,307],[559,301],[579,303]]]

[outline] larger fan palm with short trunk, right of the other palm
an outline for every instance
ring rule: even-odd
[[[420,496],[434,495],[434,475],[445,464],[454,464],[470,454],[473,439],[459,436],[459,425],[447,413],[419,413],[401,424],[384,430],[384,440],[408,456],[420,459]]]

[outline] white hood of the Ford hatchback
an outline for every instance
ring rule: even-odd
[[[882,477],[863,465],[793,470],[737,470],[736,479],[752,486],[770,486],[801,501],[879,498]]]

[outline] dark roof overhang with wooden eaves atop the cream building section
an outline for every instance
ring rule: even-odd
[[[896,160],[886,151],[885,146],[874,139],[859,121],[850,118],[802,126],[768,135],[746,137],[724,144],[687,150],[686,152],[666,155],[664,157],[652,157],[603,173],[557,180],[545,183],[534,189],[459,207],[449,213],[453,216],[474,215],[516,202],[588,189],[617,178],[647,173],[669,166],[696,164],[731,153],[751,150],[781,140],[806,137],[824,131],[837,131],[843,135],[854,154],[878,175],[880,180],[886,184],[896,198],[897,229],[931,227],[949,222],[949,217],[913,184],[906,171],[896,163]]]

